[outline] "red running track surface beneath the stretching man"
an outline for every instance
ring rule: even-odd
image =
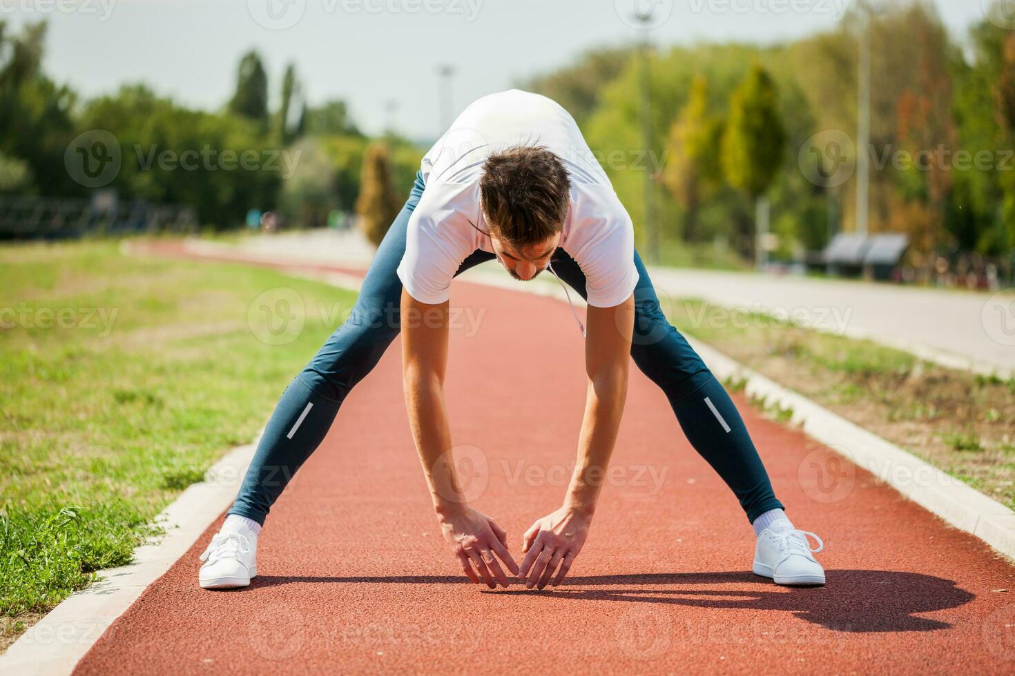
[[[518,557],[569,474],[581,336],[554,300],[459,282],[452,302],[480,318],[453,331],[454,440]],[[633,366],[567,584],[470,585],[429,506],[399,367],[396,343],[349,396],[269,517],[250,588],[197,586],[216,520],[75,673],[1015,672],[1015,567],[737,396],[791,516],[824,538],[828,583],[751,575],[743,513]]]

